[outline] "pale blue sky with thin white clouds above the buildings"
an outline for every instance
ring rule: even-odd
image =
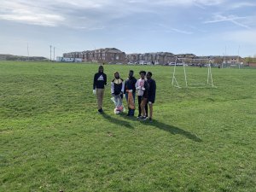
[[[0,54],[49,58],[49,45],[55,56],[100,48],[254,56],[256,1],[0,0]]]

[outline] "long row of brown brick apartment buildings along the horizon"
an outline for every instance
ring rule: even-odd
[[[63,58],[78,59],[85,62],[101,62],[101,63],[128,63],[140,65],[183,65],[205,66],[208,63],[212,65],[232,66],[242,64],[243,59],[238,55],[209,55],[196,56],[194,54],[178,54],[174,55],[170,52],[154,52],[144,54],[125,54],[125,52],[115,48],[84,50],[80,52],[64,53]],[[75,60],[73,60],[75,61]]]

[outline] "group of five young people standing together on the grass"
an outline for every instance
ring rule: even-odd
[[[127,101],[128,113],[127,116],[135,115],[135,98],[137,92],[138,116],[137,119],[152,121],[153,104],[155,100],[156,84],[152,79],[152,73],[141,71],[140,79],[134,77],[133,70],[129,71],[128,78],[120,78],[119,72],[113,73],[114,77],[111,82],[111,94],[113,102],[116,103],[115,112],[123,112],[123,97]],[[107,85],[107,75],[104,73],[103,66],[99,67],[98,73],[94,76],[93,94],[97,97],[98,113],[103,113],[102,101],[104,96],[105,86]],[[149,106],[149,114],[148,114]]]

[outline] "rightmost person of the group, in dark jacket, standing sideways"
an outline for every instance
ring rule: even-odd
[[[149,105],[149,121],[152,122],[152,116],[153,116],[153,104],[155,100],[155,92],[156,92],[156,84],[154,79],[152,79],[152,73],[148,72],[147,73],[147,81],[144,84],[143,87],[143,102],[141,104],[141,108],[143,111],[143,117],[140,119],[146,120],[146,111],[145,111],[145,106]]]

